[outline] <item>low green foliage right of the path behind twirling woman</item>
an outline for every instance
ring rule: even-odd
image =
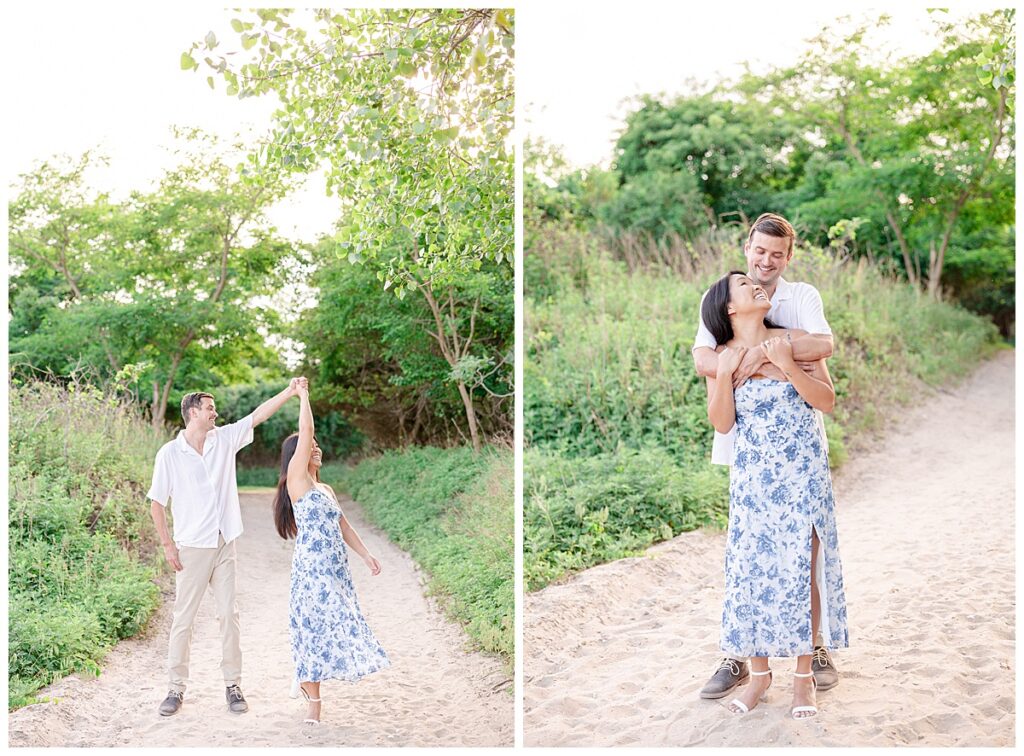
[[[480,648],[511,669],[513,462],[509,449],[413,447],[326,465],[339,486],[430,577],[429,588]]]

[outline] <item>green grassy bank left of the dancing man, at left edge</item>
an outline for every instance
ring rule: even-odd
[[[72,672],[98,674],[157,607],[156,536],[139,502],[162,443],[95,389],[11,388],[8,707]]]

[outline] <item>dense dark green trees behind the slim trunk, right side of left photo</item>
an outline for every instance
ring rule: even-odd
[[[425,327],[432,314],[424,298],[395,299],[372,269],[338,259],[330,242],[316,249],[315,259],[311,283],[319,303],[303,312],[296,333],[307,345],[317,397],[341,408],[379,446],[458,437],[462,401],[453,369]],[[453,296],[460,313],[472,312],[478,298],[474,344],[481,353],[501,355],[496,363],[462,366],[472,371],[461,379],[474,392],[481,431],[510,434],[512,277],[505,266],[485,263],[463,277]],[[466,330],[464,324],[460,330]]]

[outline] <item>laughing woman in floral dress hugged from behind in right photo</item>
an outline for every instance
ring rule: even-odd
[[[849,645],[828,448],[815,410],[831,412],[836,391],[824,360],[809,370],[793,359],[802,331],[774,328],[764,289],[733,270],[708,292],[701,316],[720,344],[718,374],[708,379],[708,417],[727,433],[735,425],[729,477],[722,650],[750,657],[751,681],[729,710],[746,713],[771,685],[769,657],[796,657],[792,715],[817,714],[811,657],[820,627],[824,645]],[[771,362],[733,389],[749,348]]]

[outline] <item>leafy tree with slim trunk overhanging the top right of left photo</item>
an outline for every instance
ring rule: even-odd
[[[467,361],[494,360],[473,352],[476,300],[468,313],[454,304],[460,277],[485,260],[512,264],[511,11],[315,10],[312,32],[291,17],[262,9],[236,18],[247,61],[217,53],[209,34],[182,68],[198,70],[201,55],[227,94],[276,94],[282,108],[251,168],[326,163],[343,208],[336,253],[370,266],[399,298],[420,292],[454,375]],[[457,386],[479,449],[472,388]]]

